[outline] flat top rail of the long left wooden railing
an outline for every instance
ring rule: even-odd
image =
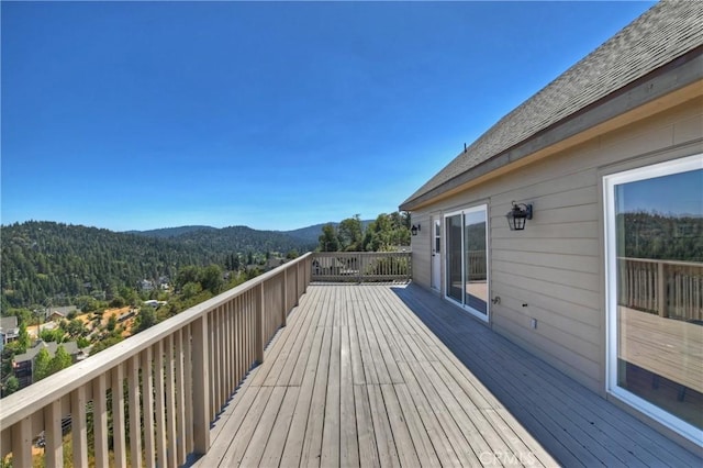
[[[105,370],[112,369],[119,364],[136,356],[153,344],[158,343],[160,339],[200,319],[209,311],[275,278],[293,265],[305,260],[311,255],[312,253],[304,254],[243,285],[232,288],[200,304],[193,305],[144,332],[130,336],[116,345],[100,352],[100,354],[90,356],[80,363],[43,379],[41,382],[33,383],[16,393],[3,398],[0,404],[0,427],[9,427],[22,419],[32,415],[36,412],[37,406],[44,406],[70,393],[72,390],[104,374]]]

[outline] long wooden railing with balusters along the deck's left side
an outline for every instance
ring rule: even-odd
[[[211,422],[286,325],[312,259],[306,254],[3,399],[2,460],[32,466],[41,436],[45,466],[62,467],[65,432],[76,467],[89,457],[96,466],[175,467],[207,453]]]

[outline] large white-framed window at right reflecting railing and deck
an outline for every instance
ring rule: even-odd
[[[607,176],[609,391],[702,443],[703,155]]]

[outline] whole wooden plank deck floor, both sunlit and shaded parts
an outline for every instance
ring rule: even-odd
[[[193,466],[702,464],[412,285],[309,287],[211,442]]]

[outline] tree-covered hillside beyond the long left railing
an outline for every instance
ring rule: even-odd
[[[244,226],[183,230],[179,236],[26,222],[1,227],[2,309],[62,297],[116,293],[138,280],[174,278],[185,266],[225,265],[232,255],[305,252],[310,245]],[[314,246],[313,246],[314,247]]]

